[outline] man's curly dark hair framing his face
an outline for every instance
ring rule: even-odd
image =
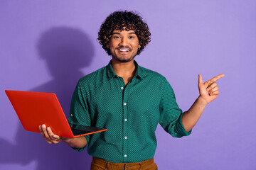
[[[141,16],[132,11],[114,11],[106,18],[105,22],[102,23],[98,33],[98,40],[108,55],[111,55],[111,53],[110,48],[107,47],[107,43],[110,42],[113,30],[124,30],[124,27],[127,31],[134,30],[139,38],[139,45],[141,45],[141,47],[137,55],[139,55],[150,42],[151,33],[149,32],[149,27],[142,21]]]

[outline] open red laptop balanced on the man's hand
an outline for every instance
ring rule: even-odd
[[[69,124],[58,98],[53,93],[6,90],[16,114],[25,130],[40,132],[39,125],[50,127],[55,135],[80,137],[107,129]]]

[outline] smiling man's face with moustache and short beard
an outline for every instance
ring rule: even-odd
[[[139,39],[134,30],[114,30],[110,42],[107,44],[113,60],[129,62],[137,55]]]

